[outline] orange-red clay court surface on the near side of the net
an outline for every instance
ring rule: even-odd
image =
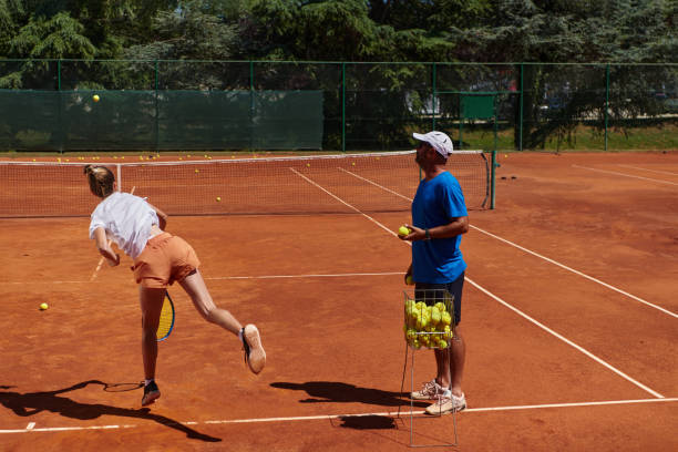
[[[469,409],[450,450],[678,450],[678,153],[499,162],[496,209],[472,210],[462,240]],[[410,246],[391,233],[409,219],[171,217],[268,362],[253,376],[175,286],[148,409],[130,259],[95,271],[86,217],[0,219],[0,450],[410,450]],[[432,352],[414,372],[433,377]],[[425,405],[414,442],[452,442]]]

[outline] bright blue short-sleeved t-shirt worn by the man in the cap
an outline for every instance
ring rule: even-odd
[[[449,224],[450,218],[468,215],[461,186],[449,172],[419,183],[412,202],[412,225],[430,229]],[[466,269],[460,244],[461,235],[412,242],[412,279],[448,284],[459,278]]]

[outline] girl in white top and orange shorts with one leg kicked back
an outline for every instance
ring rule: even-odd
[[[178,281],[205,320],[237,335],[243,342],[245,361],[254,373],[266,364],[266,352],[254,325],[243,327],[227,310],[217,308],[198,270],[195,251],[185,240],[165,233],[167,215],[144,198],[117,192],[115,177],[105,166],[86,165],[84,173],[92,193],[102,198],[91,216],[90,238],[111,266],[120,265],[120,255],[109,239],[134,260],[134,278],[138,284],[142,309],[142,355],[144,361],[144,397],[142,405],[160,397],[155,383],[157,361],[156,330],[165,290]]]

